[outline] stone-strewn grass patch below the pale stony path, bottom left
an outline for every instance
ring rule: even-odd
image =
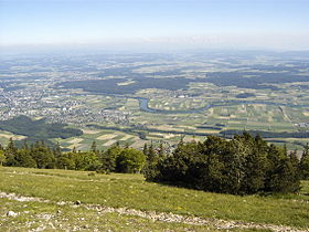
[[[8,211],[18,213],[18,217],[0,218],[1,231],[220,231],[212,225],[166,223],[115,212],[100,213],[85,208],[72,210],[72,207],[55,203],[0,199],[0,215],[6,215]]]

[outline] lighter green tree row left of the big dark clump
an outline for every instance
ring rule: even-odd
[[[81,151],[75,148],[63,152],[57,144],[53,148],[44,141],[24,143],[18,148],[12,139],[7,147],[0,146],[0,165],[40,169],[68,169],[97,172],[140,172],[146,162],[141,150],[120,147],[118,144],[106,151],[99,151],[94,141],[90,150]]]

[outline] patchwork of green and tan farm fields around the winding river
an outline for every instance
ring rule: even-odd
[[[284,86],[281,86],[284,87]],[[95,124],[98,126],[114,127],[117,129],[94,129],[87,127],[87,124],[79,124],[78,120],[85,118],[78,118],[79,115],[73,116],[73,123],[70,125],[76,129],[83,129],[84,134],[79,137],[72,137],[67,139],[53,138],[53,143],[60,143],[65,149],[73,149],[75,147],[78,150],[87,150],[92,146],[93,141],[96,141],[98,149],[107,149],[111,145],[119,143],[120,145],[129,145],[135,148],[141,148],[145,143],[160,143],[161,140],[175,144],[180,140],[181,136],[187,135],[187,140],[204,140],[206,135],[219,134],[228,129],[236,130],[259,130],[269,133],[298,133],[305,131],[306,128],[300,128],[298,123],[309,122],[308,107],[291,107],[280,104],[285,104],[285,91],[271,92],[269,89],[242,89],[234,87],[219,87],[206,83],[192,83],[190,88],[185,92],[189,95],[170,95],[168,91],[163,89],[143,89],[136,93],[134,96],[116,97],[107,95],[94,95],[81,91],[75,91],[70,101],[76,101],[79,104],[73,107],[73,109],[84,110],[85,106],[89,106],[89,112],[97,114],[103,109],[113,108],[113,110],[119,113],[128,113],[128,122],[119,123],[114,122],[114,113],[110,113],[110,118],[100,122],[94,120],[87,124]],[[74,93],[75,93],[74,92]],[[245,99],[236,98],[237,94],[249,92],[255,94],[255,97],[248,97]],[[200,93],[199,96],[190,96],[194,93]],[[289,95],[294,101],[291,104],[301,105],[307,104],[307,98],[298,97],[299,92],[289,86]],[[169,113],[147,113],[140,109],[139,101],[132,97],[148,97],[149,107],[169,110]],[[51,98],[51,97],[50,97]],[[49,101],[55,101],[54,98],[47,98]],[[253,101],[262,103],[242,104],[242,102],[228,104],[224,103],[224,99],[228,101]],[[289,98],[288,98],[289,99]],[[222,103],[220,101],[223,101]],[[266,104],[263,104],[265,102]],[[267,103],[270,103],[268,105]],[[271,105],[273,103],[279,105]],[[195,113],[173,113],[173,110],[191,110],[196,109],[209,104],[214,104],[212,108],[203,112]],[[113,112],[111,110],[111,112]],[[107,113],[109,114],[109,113]],[[76,122],[75,122],[76,120]],[[75,123],[74,123],[75,122]],[[217,126],[221,125],[221,126]],[[136,129],[136,126],[140,126],[141,129]],[[122,128],[131,128],[134,131],[121,131]],[[145,128],[145,129],[142,129]],[[152,130],[156,131],[152,131]],[[138,133],[145,134],[145,138],[141,138]],[[202,134],[194,135],[192,134]],[[111,136],[113,135],[113,136]],[[0,143],[6,145],[9,137],[14,139],[22,139],[20,135],[14,135],[9,131],[0,133]],[[268,139],[271,143],[278,145],[287,145],[289,150],[301,150],[309,139],[298,138],[280,138],[276,136]]]

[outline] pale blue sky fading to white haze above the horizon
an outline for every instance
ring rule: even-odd
[[[0,0],[0,48],[309,50],[309,0]]]

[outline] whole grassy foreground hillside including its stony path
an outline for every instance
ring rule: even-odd
[[[309,229],[308,181],[298,196],[239,197],[150,183],[141,175],[1,167],[0,179],[0,213],[18,213],[1,217],[7,231]]]

